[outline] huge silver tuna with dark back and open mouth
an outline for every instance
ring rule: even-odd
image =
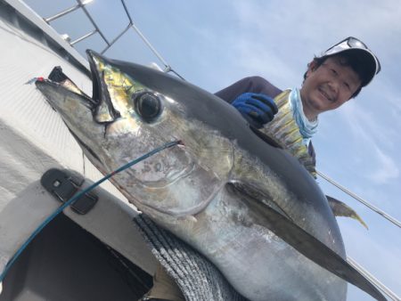
[[[182,142],[113,183],[209,258],[241,295],[339,301],[349,281],[385,300],[345,260],[327,199],[290,153],[195,85],[87,54],[92,98],[51,80],[37,81],[37,88],[104,174],[164,143]]]

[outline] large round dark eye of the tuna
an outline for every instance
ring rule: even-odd
[[[160,97],[151,92],[142,92],[132,96],[136,113],[146,122],[158,118],[163,110]]]

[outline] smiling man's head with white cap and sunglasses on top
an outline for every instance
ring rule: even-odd
[[[380,70],[377,57],[355,37],[334,45],[308,65],[300,90],[305,115],[313,120],[323,111],[339,108]]]

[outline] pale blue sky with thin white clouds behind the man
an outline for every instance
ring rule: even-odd
[[[75,1],[27,0],[42,17]],[[127,27],[118,0],[86,5],[108,40]],[[374,206],[401,220],[401,5],[399,0],[128,0],[139,28],[165,61],[209,92],[248,76],[265,77],[281,89],[300,87],[307,63],[345,37],[358,37],[381,61],[381,73],[356,99],[320,116],[313,142],[317,169]],[[71,40],[93,30],[78,10],[51,22]],[[76,45],[98,52],[99,35]],[[130,29],[104,53],[149,65],[158,58]],[[340,217],[348,256],[401,296],[401,229],[318,178],[323,191],[353,207],[369,230]],[[348,300],[371,300],[353,286]]]

